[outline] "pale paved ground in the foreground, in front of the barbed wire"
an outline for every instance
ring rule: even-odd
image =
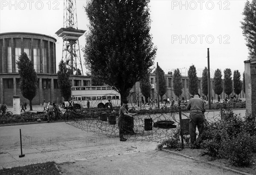
[[[17,137],[20,128],[26,138],[57,137],[59,141],[25,144],[23,158],[19,158],[19,145],[0,146],[0,169],[55,161],[64,175],[237,174],[205,162],[157,151],[155,142],[120,142],[118,138],[96,136],[64,122],[0,127],[1,138],[6,138],[6,135]],[[61,141],[71,138],[80,139]]]

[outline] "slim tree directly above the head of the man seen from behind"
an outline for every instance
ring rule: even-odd
[[[189,93],[194,95],[196,92],[198,93],[198,77],[197,77],[195,65],[192,65],[189,67],[188,76],[189,76]]]

